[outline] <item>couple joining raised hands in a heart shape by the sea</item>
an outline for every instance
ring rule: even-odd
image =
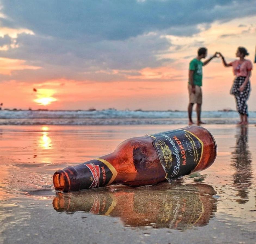
[[[236,76],[230,93],[235,96],[236,107],[240,114],[241,121],[238,124],[248,124],[248,106],[246,101],[249,98],[251,91],[249,77],[251,76],[252,63],[250,60],[245,59],[245,56],[249,55],[244,47],[238,47],[236,51],[236,57],[239,59],[227,63],[225,58],[220,52],[207,59],[205,62],[201,62],[201,59],[207,56],[207,49],[200,47],[198,49],[198,56],[189,63],[189,125],[193,124],[192,121],[192,109],[196,103],[197,124],[205,124],[201,121],[201,106],[202,106],[202,66],[208,64],[213,58],[221,57],[222,63],[225,67],[233,67],[233,73]]]

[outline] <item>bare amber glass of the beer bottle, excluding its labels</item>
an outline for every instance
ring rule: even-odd
[[[203,143],[202,158],[192,172],[208,168],[214,162],[217,154],[213,136],[200,126],[189,126],[182,129],[190,131]],[[153,146],[153,140],[150,136],[133,137],[122,142],[114,152],[100,157],[109,162],[117,171],[111,184],[140,186],[166,180],[166,173]],[[56,171],[53,175],[54,187],[63,192],[84,189],[83,182],[90,177],[84,168],[84,164],[80,164]],[[190,172],[191,170],[188,170],[186,174]]]

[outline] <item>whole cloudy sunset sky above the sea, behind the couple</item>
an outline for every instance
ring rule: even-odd
[[[252,62],[256,0],[0,0],[4,108],[186,110],[199,47]],[[203,60],[202,60],[203,61]],[[249,110],[256,110],[253,63]],[[234,109],[234,76],[203,67],[203,110]]]

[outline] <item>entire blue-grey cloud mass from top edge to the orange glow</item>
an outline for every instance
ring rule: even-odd
[[[0,38],[0,46],[15,43],[1,50],[0,56],[41,67],[14,70],[11,77],[4,77],[23,81],[57,76],[124,80],[125,72],[113,70],[136,73],[174,62],[161,55],[180,50],[183,44],[173,45],[167,35],[192,36],[213,21],[255,15],[256,11],[255,0],[246,0],[243,11],[233,0],[1,0],[1,5],[1,27],[26,31]]]

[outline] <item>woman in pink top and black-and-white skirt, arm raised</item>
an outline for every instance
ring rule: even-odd
[[[222,54],[219,54],[225,67],[233,67],[233,73],[236,78],[230,92],[236,98],[236,107],[241,118],[241,121],[238,124],[247,125],[248,106],[246,101],[248,100],[251,91],[249,77],[251,76],[252,63],[250,60],[245,59],[245,56],[249,55],[249,53],[244,47],[238,47],[236,57],[239,57],[239,60],[235,60],[231,63],[226,63]]]

